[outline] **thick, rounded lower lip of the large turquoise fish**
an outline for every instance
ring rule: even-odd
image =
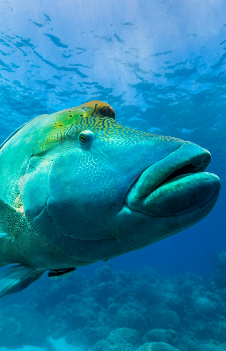
[[[212,173],[188,173],[173,178],[136,204],[148,216],[179,216],[217,201],[220,180]],[[135,209],[135,208],[134,208]]]

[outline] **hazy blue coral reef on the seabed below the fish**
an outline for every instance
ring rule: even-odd
[[[79,270],[56,281],[44,276],[2,299],[0,307],[0,351],[25,345],[37,350],[223,351],[226,253],[215,257],[208,278],[191,273],[166,278],[149,267],[134,274],[115,272],[104,264],[90,280]]]

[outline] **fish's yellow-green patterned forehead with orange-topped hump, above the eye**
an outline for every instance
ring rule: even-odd
[[[42,124],[41,133],[34,136],[34,153],[42,153],[59,146],[64,141],[78,141],[78,135],[83,130],[91,130],[97,133],[107,143],[123,143],[123,146],[131,147],[144,139],[152,141],[178,142],[178,139],[145,133],[122,126],[115,121],[113,108],[102,101],[94,100],[77,107],[68,108],[60,112],[52,113],[45,117],[37,117],[37,125]],[[34,119],[35,121],[36,119]],[[37,131],[37,130],[36,130]]]

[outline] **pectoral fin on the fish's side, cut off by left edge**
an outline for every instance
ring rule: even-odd
[[[0,233],[3,233],[3,236],[10,232],[13,225],[21,219],[21,216],[22,213],[17,208],[0,197]]]

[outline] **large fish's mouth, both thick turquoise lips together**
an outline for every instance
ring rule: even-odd
[[[204,173],[210,161],[210,152],[185,142],[139,175],[125,204],[155,217],[179,216],[203,205],[211,211],[219,196],[220,179]]]

